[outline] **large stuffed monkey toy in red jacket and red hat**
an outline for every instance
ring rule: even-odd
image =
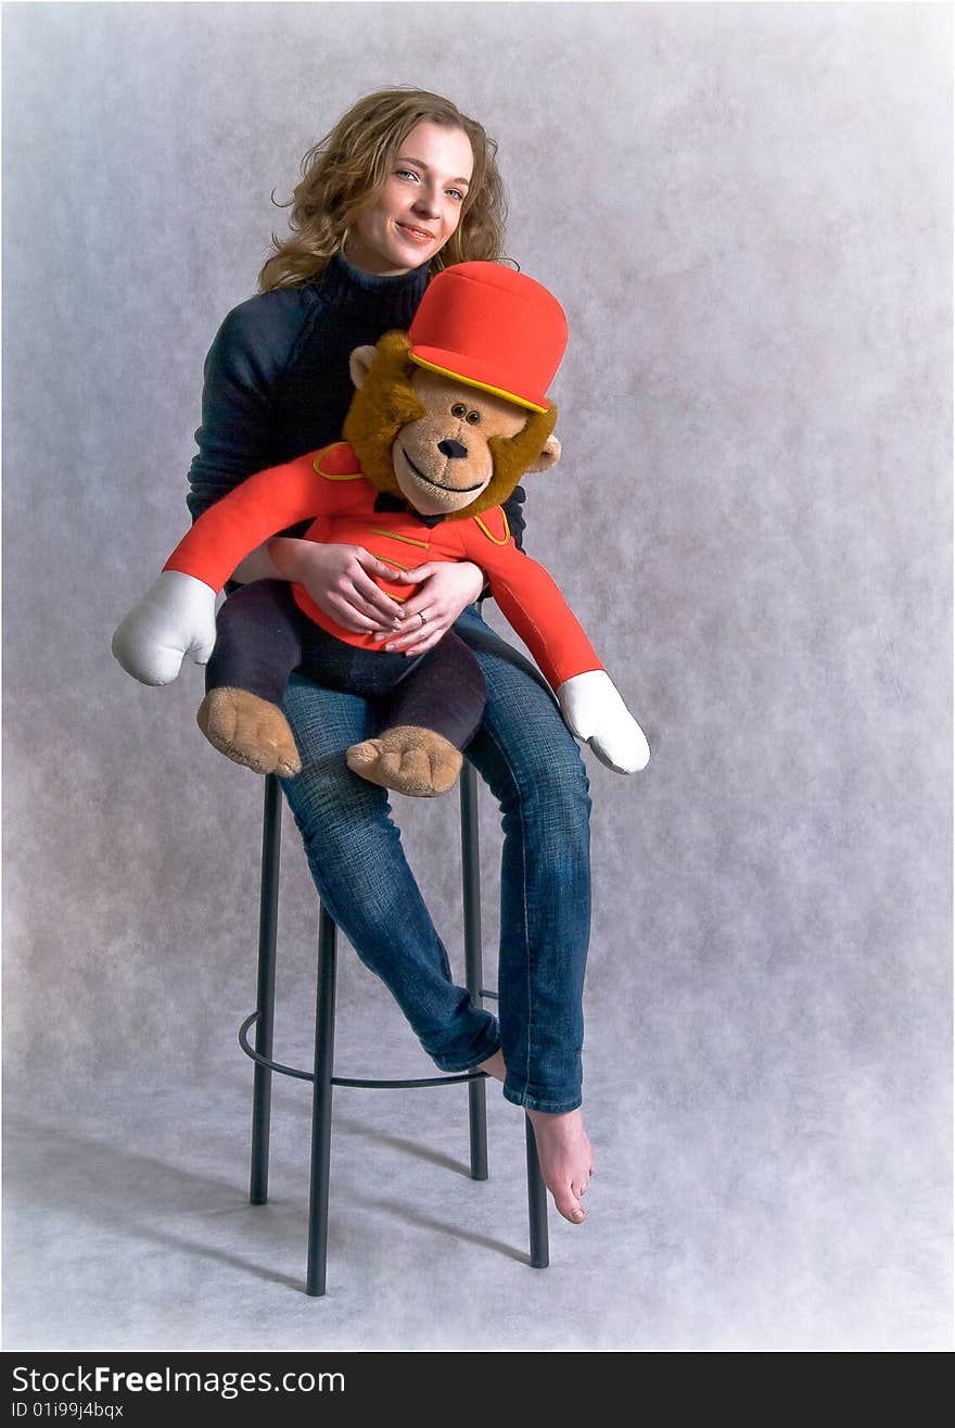
[[[518,550],[502,503],[560,458],[545,391],[567,320],[540,283],[461,263],[430,283],[408,333],[351,354],[344,441],[244,480],[176,547],[113,637],[120,664],[167,684],[183,657],[208,661],[206,737],[236,763],[290,777],[298,751],[280,701],[293,670],[375,703],[378,734],[347,751],[371,783],[427,797],[453,787],[484,713],[484,677],[453,631],[424,655],[387,653],[337,625],[301,585],[256,581],[216,594],[270,536],[307,518],[308,540],[364,545],[401,570],[470,560],[531,650],[565,723],[618,773],[650,748],[557,584]],[[397,603],[407,584],[378,581]]]

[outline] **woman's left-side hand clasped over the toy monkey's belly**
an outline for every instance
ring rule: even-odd
[[[401,605],[371,578],[394,581],[395,570],[363,545],[323,545],[276,536],[268,541],[268,555],[283,580],[304,585],[318,608],[345,630],[381,631],[385,638],[400,628]]]

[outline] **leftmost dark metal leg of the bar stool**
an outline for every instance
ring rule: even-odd
[[[281,790],[274,774],[266,778],[263,807],[261,892],[258,901],[258,984],[256,991],[256,1051],[271,1058],[276,1021],[276,935],[278,931],[278,861],[281,854]],[[253,1154],[248,1200],[268,1201],[268,1122],[271,1071],[256,1062],[253,1081]]]

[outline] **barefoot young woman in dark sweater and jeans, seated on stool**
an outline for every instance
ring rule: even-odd
[[[206,361],[188,507],[200,516],[253,471],[341,436],[348,356],[408,327],[428,277],[498,260],[504,190],[497,146],[454,104],[420,90],[361,99],[303,160],[290,227],[261,291],[224,320]],[[508,503],[518,543],[518,488]],[[274,537],[238,583],[300,581],[350,630],[385,650],[430,650],[454,625],[487,680],[487,711],[465,750],[501,804],[500,1024],[453,981],[445,948],[404,858],[383,788],[344,750],[371,730],[364,700],[293,675],[284,711],[303,768],[283,788],[318,894],[358,955],[391,990],[443,1071],[480,1067],[534,1124],[541,1174],[580,1224],[592,1151],[581,1112],[581,998],[590,931],[590,797],[574,738],[538,671],[484,623],[471,564],[430,564],[395,611],[361,547]]]

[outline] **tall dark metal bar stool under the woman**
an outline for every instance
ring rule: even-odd
[[[461,881],[464,894],[465,978],[473,1000],[497,992],[481,987],[481,888],[478,864],[477,775],[465,763],[461,771]],[[468,1121],[471,1137],[471,1180],[487,1180],[487,1107],[484,1071],[458,1075],[417,1077],[408,1081],[370,1081],[333,1075],[335,1035],[335,924],[320,905],[318,980],[315,997],[315,1061],[313,1071],[273,1061],[276,1014],[276,941],[278,928],[278,863],[281,848],[281,790],[274,774],[266,778],[263,814],[261,900],[258,918],[258,990],[256,1011],[238,1028],[238,1044],[256,1062],[253,1088],[253,1152],[250,1201],[264,1205],[268,1200],[268,1127],[271,1112],[271,1074],[291,1075],[313,1082],[311,1108],[311,1182],[308,1192],[308,1267],[305,1294],[325,1292],[328,1257],[328,1174],[331,1152],[331,1088],[361,1085],[371,1088],[408,1088],[468,1082]],[[248,1031],[256,1027],[256,1045]],[[527,1141],[527,1200],[530,1215],[530,1262],[535,1269],[548,1265],[547,1191],[537,1160],[534,1127],[524,1117]]]

